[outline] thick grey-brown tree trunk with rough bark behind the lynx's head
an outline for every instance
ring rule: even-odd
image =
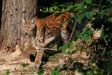
[[[0,41],[5,48],[13,48],[18,44],[22,18],[32,18],[36,14],[36,5],[37,0],[3,0]]]

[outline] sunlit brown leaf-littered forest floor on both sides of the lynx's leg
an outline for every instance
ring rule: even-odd
[[[47,53],[46,53],[47,54]],[[72,62],[73,61],[73,62]],[[75,62],[89,63],[89,55],[87,49],[78,50],[73,54],[55,53],[47,57],[47,61],[43,61],[43,75],[52,75],[55,68],[61,68],[64,65],[66,69],[74,69]],[[86,65],[86,64],[85,64]],[[87,64],[88,65],[88,64]],[[39,71],[39,70],[38,70]],[[38,75],[34,62],[29,58],[22,57],[21,51],[8,52],[0,50],[0,75]],[[80,75],[77,71],[62,70],[61,75]]]

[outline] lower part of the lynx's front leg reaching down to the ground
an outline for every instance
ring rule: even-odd
[[[36,54],[36,57],[35,57],[35,63],[34,63],[34,67],[36,69],[38,69],[41,65],[41,61],[42,61],[42,57],[44,55],[44,50],[37,50],[37,54]]]

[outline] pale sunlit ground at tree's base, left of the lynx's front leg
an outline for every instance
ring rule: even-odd
[[[37,75],[33,63],[27,58],[20,59],[19,54],[18,51],[0,51],[0,75]]]

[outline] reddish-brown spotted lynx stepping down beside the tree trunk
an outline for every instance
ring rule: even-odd
[[[31,27],[27,29],[29,31],[36,27],[35,48],[37,49],[37,55],[35,58],[35,65],[37,67],[41,64],[41,58],[45,50],[44,48],[48,44],[56,38],[62,39],[64,44],[68,42],[70,37],[68,30],[72,28],[70,28],[69,19],[72,17],[73,14],[68,12],[62,14],[53,13],[45,18],[35,17],[32,21],[30,21],[32,24],[27,24],[27,28],[29,25],[29,27]]]

